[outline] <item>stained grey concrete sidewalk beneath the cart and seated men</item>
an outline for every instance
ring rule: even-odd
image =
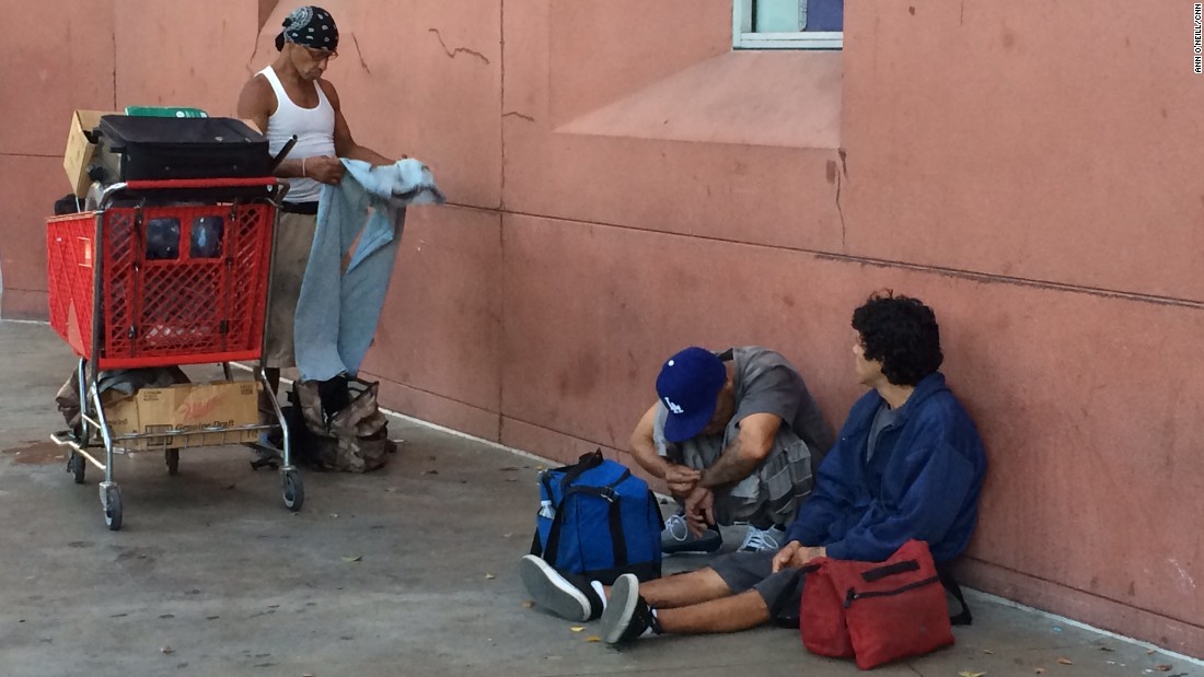
[[[530,457],[411,421],[390,465],[279,475],[241,447],[117,463],[125,527],[77,486],[48,434],[73,358],[45,325],[0,322],[0,676],[856,675],[766,628],[614,649],[527,608],[515,571],[536,506]],[[218,378],[216,369],[193,369]],[[739,542],[739,530],[727,534]],[[669,571],[704,558],[671,558]],[[1199,664],[970,593],[957,645],[883,676],[1204,677]]]

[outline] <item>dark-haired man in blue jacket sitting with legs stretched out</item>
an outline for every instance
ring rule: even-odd
[[[733,552],[647,583],[624,575],[609,589],[524,558],[536,601],[574,620],[601,616],[609,643],[732,633],[797,610],[801,569],[816,557],[883,562],[911,539],[926,541],[938,565],[961,554],[978,523],[986,452],[937,370],[937,317],[915,298],[875,295],[854,311],[852,328],[852,370],[870,391],[849,411],[780,551]]]

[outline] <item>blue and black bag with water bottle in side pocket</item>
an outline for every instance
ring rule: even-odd
[[[661,575],[665,522],[648,483],[602,450],[539,474],[539,512],[531,554],[561,574],[612,584],[622,574]]]

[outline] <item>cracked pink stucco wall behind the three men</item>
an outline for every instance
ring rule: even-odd
[[[367,370],[407,414],[621,457],[687,343],[780,349],[839,423],[850,310],[919,296],[991,453],[966,578],[1204,655],[1191,6],[1072,5],[850,0],[842,53],[733,53],[720,0],[327,0],[356,137],[454,203],[412,212]],[[291,5],[18,6],[2,311],[41,316],[71,109],[232,113]]]

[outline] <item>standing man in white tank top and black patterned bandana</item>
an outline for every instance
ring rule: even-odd
[[[321,184],[342,180],[340,158],[373,165],[394,162],[355,143],[335,85],[321,77],[331,59],[338,57],[338,29],[330,12],[315,6],[300,7],[284,19],[283,26],[276,36],[279,55],[250,78],[238,95],[238,117],[259,125],[273,154],[294,135],[297,137],[288,159],[276,170],[276,176],[289,179],[289,192],[278,220],[272,293],[264,328],[266,346],[261,364],[273,391],[279,385],[281,368],[295,366],[293,316],[313,245]]]

